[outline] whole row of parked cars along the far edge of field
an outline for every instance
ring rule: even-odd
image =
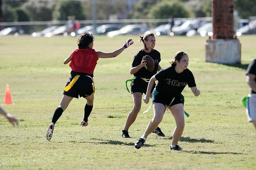
[[[85,26],[78,29],[76,32],[67,32],[67,26],[50,26],[45,28],[42,31],[33,32],[31,36],[45,36],[51,37],[54,35],[64,35],[64,36],[76,36],[83,32],[91,32],[93,34],[98,35],[106,35],[108,37],[113,37],[117,35],[131,34],[138,35],[143,32],[153,32],[155,35],[186,35],[186,36],[211,36],[212,35],[212,23],[211,21],[201,21],[197,28],[195,28],[193,24],[193,20],[174,21],[174,26],[172,27],[170,24],[162,24],[160,26],[155,27],[154,29],[148,28],[147,24],[129,24],[126,26],[122,26],[120,24],[103,24],[101,26],[96,26],[94,29],[93,25]],[[240,36],[242,34],[256,34],[256,20],[238,20],[236,27],[234,28],[236,35]],[[19,27],[10,27],[4,28],[0,31],[0,35],[8,35],[14,34],[15,36],[20,34],[25,34],[25,31]]]

